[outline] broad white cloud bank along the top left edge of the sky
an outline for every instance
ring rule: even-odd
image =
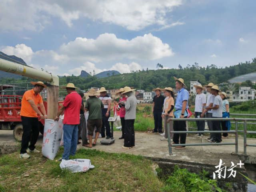
[[[60,18],[69,27],[81,17],[128,30],[141,30],[153,24],[170,27],[166,14],[181,4],[182,0],[2,0],[0,28],[41,31],[51,23],[51,17]]]

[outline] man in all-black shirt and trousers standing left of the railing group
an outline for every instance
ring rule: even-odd
[[[152,112],[154,115],[155,128],[152,133],[159,132],[159,134],[162,134],[162,111],[165,97],[161,95],[160,88],[153,89],[153,91],[156,92],[156,96],[153,98]]]

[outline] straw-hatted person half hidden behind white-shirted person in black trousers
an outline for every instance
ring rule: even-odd
[[[204,87],[206,87],[206,88],[212,88],[212,86],[214,86],[213,83],[209,83],[208,85],[204,85]],[[206,89],[206,90],[207,90],[208,93],[210,93],[210,94],[207,96],[206,106],[207,106],[207,107],[208,107],[208,106],[212,107],[214,100],[213,100],[213,102],[212,102],[212,104],[211,104],[211,99],[212,99],[212,97],[215,97],[215,96],[213,96],[213,95],[211,94],[211,90],[210,90],[210,89]],[[205,114],[205,118],[212,118],[212,110],[206,110],[206,109],[205,109],[205,110],[204,110],[204,114]],[[213,131],[213,128],[212,128],[212,121],[207,121],[207,126],[208,126],[208,128],[209,128],[209,131]],[[213,133],[210,133],[210,137],[207,138],[207,140],[211,140],[212,137],[213,137]]]

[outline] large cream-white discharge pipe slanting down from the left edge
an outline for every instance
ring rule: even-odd
[[[47,83],[50,83],[51,85],[59,86],[58,76],[49,74],[44,71],[40,71],[27,65],[22,65],[8,60],[0,59],[0,70],[30,78],[44,80],[47,81]]]

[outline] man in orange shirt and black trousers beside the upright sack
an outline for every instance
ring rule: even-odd
[[[24,93],[22,101],[21,101],[21,110],[20,116],[23,126],[23,134],[21,140],[21,150],[20,150],[20,158],[30,158],[30,155],[27,153],[35,152],[39,153],[40,151],[35,149],[35,144],[39,135],[39,122],[37,114],[40,115],[40,118],[43,120],[47,118],[46,111],[44,108],[42,96],[40,96],[40,92],[44,88],[47,88],[46,85],[41,82],[31,82],[34,85],[32,90],[28,90]],[[37,105],[39,104],[42,113],[39,111]],[[28,146],[30,132],[31,140],[30,146]]]

